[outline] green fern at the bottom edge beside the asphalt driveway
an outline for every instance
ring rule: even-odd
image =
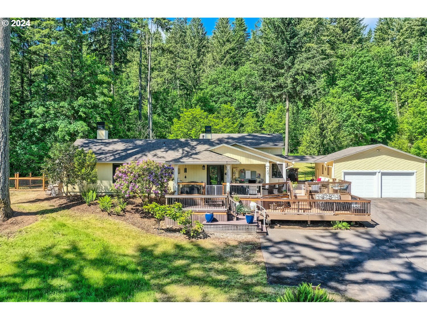
[[[320,285],[313,288],[311,283],[302,282],[298,287],[285,289],[285,294],[277,298],[278,302],[333,302],[328,297],[328,291],[321,289]]]

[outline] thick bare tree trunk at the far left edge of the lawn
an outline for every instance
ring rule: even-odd
[[[10,23],[0,18],[0,221],[12,217],[9,195]]]

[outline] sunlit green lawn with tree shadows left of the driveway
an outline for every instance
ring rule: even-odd
[[[275,301],[283,294],[267,285],[258,243],[172,239],[97,215],[37,210],[39,221],[0,237],[0,301]]]

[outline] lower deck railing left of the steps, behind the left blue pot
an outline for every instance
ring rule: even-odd
[[[166,195],[166,204],[182,204],[184,210],[225,211],[228,208],[227,195]]]

